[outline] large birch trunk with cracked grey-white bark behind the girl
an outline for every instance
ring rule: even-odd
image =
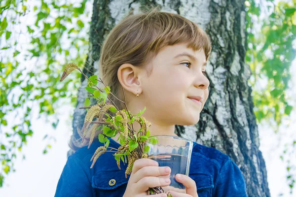
[[[101,43],[129,12],[140,12],[141,5],[161,5],[162,11],[180,14],[199,24],[210,35],[212,53],[207,73],[210,96],[195,126],[176,126],[179,136],[214,147],[240,167],[249,197],[270,197],[265,162],[259,151],[259,135],[253,112],[251,75],[245,64],[246,33],[244,0],[94,0],[90,27],[90,47],[83,72],[98,74]],[[74,111],[73,137],[83,125],[87,81],[82,76]],[[72,154],[69,151],[69,155]]]

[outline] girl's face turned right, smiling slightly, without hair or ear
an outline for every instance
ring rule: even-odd
[[[146,106],[143,116],[159,125],[196,124],[209,96],[203,49],[194,51],[186,43],[166,46],[147,66],[152,73],[138,75],[141,94],[134,98]]]

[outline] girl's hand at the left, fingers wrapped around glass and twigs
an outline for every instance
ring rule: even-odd
[[[158,163],[151,159],[138,159],[133,165],[123,197],[151,197],[148,196],[147,190],[170,185],[170,174],[170,167],[159,167]],[[167,195],[163,193],[153,197],[167,197]]]

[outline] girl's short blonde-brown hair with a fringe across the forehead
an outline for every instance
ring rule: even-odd
[[[100,56],[100,76],[111,88],[111,92],[121,99],[123,93],[117,71],[122,64],[143,66],[150,75],[152,67],[146,66],[149,60],[155,57],[162,47],[178,43],[187,43],[194,51],[203,49],[206,60],[209,59],[209,36],[185,17],[161,12],[159,7],[129,15],[118,23],[104,40]],[[124,108],[123,103],[111,99],[120,109]]]

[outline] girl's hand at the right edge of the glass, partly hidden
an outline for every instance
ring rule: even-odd
[[[172,194],[173,197],[198,197],[196,183],[193,179],[184,174],[176,174],[175,178],[176,181],[182,183],[185,186],[186,194],[180,193],[177,190],[170,190],[169,192]]]

